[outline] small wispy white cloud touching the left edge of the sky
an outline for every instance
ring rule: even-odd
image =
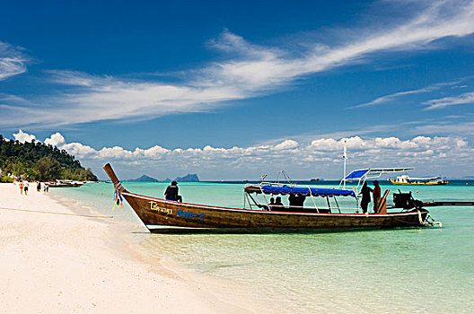
[[[26,61],[19,48],[0,41],[0,81],[26,72]]]

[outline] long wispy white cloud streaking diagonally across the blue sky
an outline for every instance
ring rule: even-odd
[[[65,84],[66,91],[41,100],[40,106],[3,106],[2,109],[4,116],[9,117],[6,120],[9,126],[74,125],[206,111],[223,106],[228,100],[276,92],[307,75],[359,63],[375,53],[427,48],[438,39],[470,35],[474,32],[472,21],[474,2],[435,2],[395,27],[353,30],[358,33],[356,39],[347,39],[333,47],[319,42],[304,42],[302,46],[311,48],[303,52],[254,45],[224,31],[219,39],[211,42],[211,46],[224,51],[228,58],[189,71],[182,83],[122,80],[55,71],[49,73],[51,80]],[[399,92],[393,97],[414,92],[417,91]],[[373,104],[386,100],[373,100]]]

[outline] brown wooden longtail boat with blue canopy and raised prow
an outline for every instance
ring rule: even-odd
[[[180,203],[131,193],[123,187],[109,163],[103,168],[114,184],[116,195],[123,196],[127,200],[149,230],[169,227],[249,231],[346,230],[421,227],[432,224],[428,222],[428,211],[421,207],[410,210],[402,209],[397,213],[387,213],[386,199],[389,191],[385,191],[377,214],[359,214],[359,201],[354,190],[296,187],[262,182],[244,187],[244,195],[250,208],[228,208]],[[252,196],[290,194],[312,197],[313,200],[320,197],[327,203],[325,202],[324,207],[315,205],[315,208],[311,210],[303,207],[294,208],[294,206],[293,208],[280,207],[278,209],[268,203],[266,205],[258,204]],[[356,203],[355,211],[353,213],[341,212],[341,207],[336,200],[338,196],[352,197]],[[330,200],[332,200],[332,206]]]

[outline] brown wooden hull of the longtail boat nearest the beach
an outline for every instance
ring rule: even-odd
[[[356,229],[422,226],[424,209],[397,214],[317,214],[256,211],[166,201],[122,193],[148,228]]]

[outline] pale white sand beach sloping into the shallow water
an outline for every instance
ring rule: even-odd
[[[68,214],[91,213],[0,184],[0,312],[249,312],[141,258],[118,222]]]

